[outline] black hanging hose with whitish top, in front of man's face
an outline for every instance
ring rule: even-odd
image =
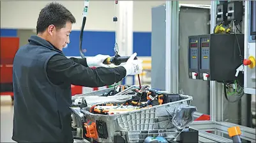
[[[89,6],[89,1],[84,1],[84,12],[83,12],[83,19],[82,19],[82,28],[80,31],[80,37],[79,37],[79,50],[80,50],[80,56],[84,58],[84,53],[82,51],[82,36],[84,34],[84,26],[86,25],[86,16],[88,13],[88,6]]]

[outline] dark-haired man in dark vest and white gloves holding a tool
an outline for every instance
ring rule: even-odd
[[[47,4],[40,11],[36,36],[31,36],[27,45],[15,54],[12,139],[16,142],[73,142],[71,84],[101,87],[119,82],[127,75],[142,73],[142,61],[134,60],[136,53],[116,68],[102,67],[109,56],[82,59],[64,56],[62,50],[70,43],[75,22],[63,5]]]

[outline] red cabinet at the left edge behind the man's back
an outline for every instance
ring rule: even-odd
[[[12,83],[12,67],[14,56],[19,49],[19,38],[17,37],[1,37],[0,41],[1,53],[1,75],[0,83]]]

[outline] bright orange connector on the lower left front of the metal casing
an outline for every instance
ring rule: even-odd
[[[86,137],[98,139],[96,123],[88,121],[87,123],[84,123],[84,128],[86,129]]]

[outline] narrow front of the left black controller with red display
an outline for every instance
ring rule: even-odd
[[[198,36],[188,37],[188,77],[199,79],[199,38]]]

